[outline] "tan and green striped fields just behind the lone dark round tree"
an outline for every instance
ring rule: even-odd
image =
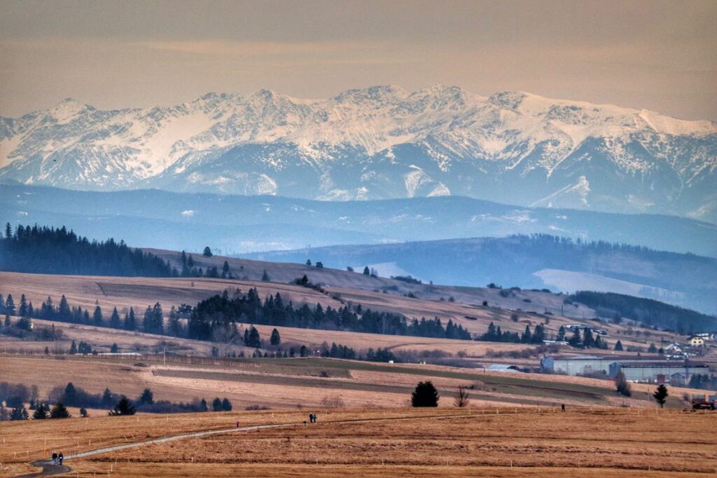
[[[161,355],[141,359],[6,355],[0,356],[0,372],[2,381],[37,385],[41,397],[72,382],[90,393],[109,387],[130,398],[144,388],[151,388],[156,400],[205,398],[211,402],[217,396],[227,397],[236,409],[298,409],[321,406],[326,400],[338,400],[347,407],[400,408],[407,406],[416,383],[423,380],[432,380],[440,391],[441,408],[452,407],[460,385],[470,388],[474,406],[655,407],[650,397],[654,385],[634,384],[632,398],[627,399],[615,392],[610,380],[319,358],[195,358],[165,364]],[[670,387],[668,407],[685,407],[683,395],[693,392]]]

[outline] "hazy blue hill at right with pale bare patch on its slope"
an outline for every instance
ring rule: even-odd
[[[717,259],[609,243],[576,243],[554,236],[470,238],[242,254],[262,261],[375,268],[457,286],[617,292],[717,313]],[[532,310],[525,304],[524,310]]]

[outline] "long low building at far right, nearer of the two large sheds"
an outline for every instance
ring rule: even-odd
[[[676,362],[668,360],[621,360],[610,364],[609,376],[622,372],[631,382],[689,383],[694,374],[709,374],[709,367],[698,362]]]

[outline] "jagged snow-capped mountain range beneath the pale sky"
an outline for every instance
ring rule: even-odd
[[[464,195],[717,221],[717,123],[435,85],[299,100],[209,93],[0,117],[0,181],[321,200]]]

